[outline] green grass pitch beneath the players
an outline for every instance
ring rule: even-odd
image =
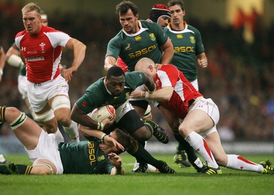
[[[173,164],[173,155],[153,156],[166,161],[177,171],[177,174],[132,173],[135,159],[125,153],[121,155],[127,172],[125,175],[0,175],[0,194],[274,194],[273,175],[227,168],[222,168],[221,175],[197,174],[194,168],[178,168],[176,164]],[[5,157],[17,164],[31,164],[27,155],[5,155]],[[266,159],[274,162],[274,155],[242,155],[242,157],[256,163]]]

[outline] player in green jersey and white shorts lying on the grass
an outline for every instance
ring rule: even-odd
[[[95,140],[68,144],[56,142],[53,133],[47,134],[16,107],[0,107],[0,122],[10,125],[33,161],[32,166],[1,165],[1,174],[125,173],[122,159],[117,154],[125,151],[131,138],[119,129],[107,135],[108,139],[103,138],[105,142]]]

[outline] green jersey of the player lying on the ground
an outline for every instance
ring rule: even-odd
[[[61,142],[58,146],[64,174],[110,174],[114,165],[99,148],[99,142],[84,141],[75,144]]]

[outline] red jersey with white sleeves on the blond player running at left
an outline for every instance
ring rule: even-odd
[[[27,80],[42,83],[58,77],[62,47],[70,38],[62,31],[43,25],[35,35],[28,34],[26,30],[19,32],[15,43],[25,58]]]

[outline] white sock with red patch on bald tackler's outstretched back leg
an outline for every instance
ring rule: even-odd
[[[263,167],[260,164],[253,163],[239,155],[227,155],[227,168],[236,170],[249,170],[262,173]]]

